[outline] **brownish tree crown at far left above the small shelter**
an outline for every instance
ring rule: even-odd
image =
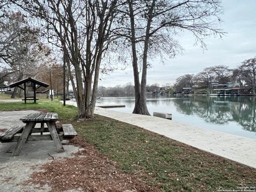
[[[13,81],[23,77],[34,76],[41,60],[50,54],[38,37],[38,29],[31,28],[20,12],[5,13],[0,18],[0,69],[11,76]],[[15,87],[11,98],[15,97]]]

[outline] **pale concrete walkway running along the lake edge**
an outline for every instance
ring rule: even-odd
[[[69,101],[67,104],[76,106],[75,102]],[[137,125],[143,129],[165,135],[168,138],[256,169],[256,140],[210,131],[159,117],[127,114],[99,107],[95,107],[94,113]]]

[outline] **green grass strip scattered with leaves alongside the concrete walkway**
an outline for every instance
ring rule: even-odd
[[[58,101],[0,103],[0,110],[47,109],[62,123],[74,125],[78,134],[101,154],[117,162],[119,169],[139,175],[162,191],[217,191],[256,187],[256,170],[229,161],[139,127],[95,115],[93,121],[77,121],[77,109]]]

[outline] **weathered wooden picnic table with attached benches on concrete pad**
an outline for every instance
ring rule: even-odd
[[[57,127],[57,113],[31,113],[20,118],[23,125],[11,127],[4,133],[0,133],[1,142],[17,142],[12,155],[18,156],[26,141],[42,141],[53,140],[58,152],[64,152],[61,140],[74,138],[77,133],[71,124],[62,124]],[[41,124],[41,127],[35,127],[36,124]],[[44,125],[47,125],[45,127]]]

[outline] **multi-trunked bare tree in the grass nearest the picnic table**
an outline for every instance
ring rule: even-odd
[[[93,118],[100,63],[115,38],[110,34],[117,0],[12,2],[45,23],[49,41],[64,52],[78,117]]]

